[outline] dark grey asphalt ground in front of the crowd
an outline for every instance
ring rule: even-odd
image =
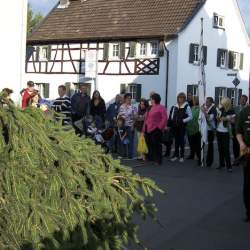
[[[199,168],[193,161],[166,160],[163,166],[131,164],[135,172],[154,179],[167,192],[154,198],[163,227],[151,220],[137,220],[148,249],[250,250],[250,224],[242,222],[239,167],[227,173]]]

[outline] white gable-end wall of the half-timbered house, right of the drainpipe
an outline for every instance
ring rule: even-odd
[[[182,31],[178,38],[178,66],[177,66],[177,93],[187,90],[187,85],[197,84],[199,79],[198,66],[189,64],[190,43],[200,42],[201,18],[204,18],[204,45],[207,51],[207,96],[215,96],[215,87],[233,88],[232,80],[227,74],[236,73],[230,69],[221,69],[217,64],[217,49],[244,53],[244,68],[238,71],[238,78],[241,84],[238,88],[248,95],[250,49],[249,40],[243,29],[235,0],[207,0],[203,8],[195,18]],[[213,28],[213,14],[217,13],[225,17],[225,31]],[[171,61],[170,61],[171,64]],[[170,89],[175,89],[171,83]]]

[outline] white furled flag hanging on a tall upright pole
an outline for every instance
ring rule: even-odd
[[[201,164],[204,166],[204,147],[207,144],[207,120],[202,107],[206,102],[206,74],[205,74],[205,58],[204,58],[204,45],[203,45],[203,18],[201,19],[201,38],[199,45],[199,82],[198,94],[200,104],[199,114],[199,129],[201,133]]]

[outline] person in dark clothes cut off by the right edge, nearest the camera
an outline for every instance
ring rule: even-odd
[[[237,139],[243,163],[243,197],[246,207],[246,222],[250,222],[250,106],[244,108],[237,121]]]

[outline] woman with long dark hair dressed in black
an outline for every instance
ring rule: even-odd
[[[104,126],[106,105],[98,90],[94,91],[90,102],[90,115],[95,119],[97,128]]]

